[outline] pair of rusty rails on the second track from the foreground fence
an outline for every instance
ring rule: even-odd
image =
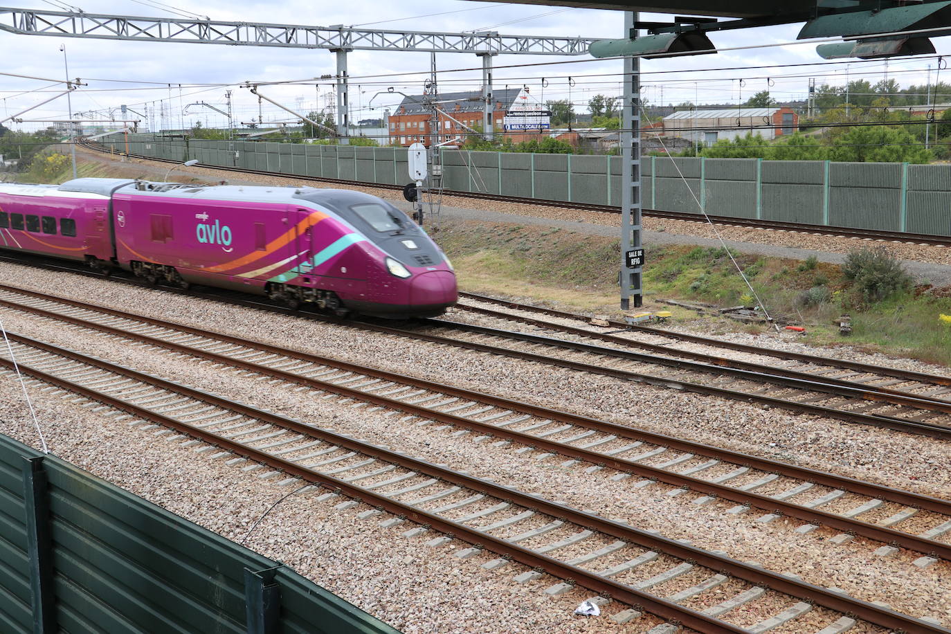
[[[356,390],[353,388],[348,388],[346,386],[341,386],[333,383],[332,381],[324,381],[317,378],[311,378],[304,375],[297,375],[292,372],[286,372],[281,369],[271,368],[253,361],[245,361],[240,358],[235,358],[229,355],[221,355],[218,353],[207,352],[200,348],[193,348],[191,344],[178,343],[170,340],[166,340],[161,337],[150,336],[150,335],[141,335],[134,332],[129,332],[118,326],[110,326],[107,324],[99,324],[94,321],[88,321],[80,317],[70,317],[63,316],[55,312],[51,312],[45,309],[30,307],[30,306],[19,306],[12,304],[7,300],[0,300],[3,305],[16,308],[17,310],[24,310],[32,312],[41,317],[48,317],[53,319],[58,319],[62,321],[67,321],[68,323],[73,323],[89,329],[99,330],[103,333],[107,333],[111,336],[122,336],[129,339],[138,340],[148,345],[155,347],[162,347],[167,350],[171,350],[176,353],[182,353],[184,355],[196,356],[199,358],[204,358],[206,360],[212,361],[225,366],[231,366],[234,368],[239,368],[248,372],[268,375],[275,378],[281,379],[281,381],[287,383],[298,384],[305,387],[311,387],[325,392],[331,392],[334,394],[344,395],[350,398],[355,398],[372,405],[377,405],[380,407],[389,408],[392,410],[398,410],[405,413],[411,413],[417,416],[422,416],[424,418],[436,420],[441,423],[453,425],[458,428],[463,428],[471,431],[483,432],[492,436],[499,438],[504,438],[517,442],[522,445],[535,447],[537,449],[542,449],[545,451],[553,451],[555,453],[560,453],[562,455],[572,457],[574,459],[583,460],[585,462],[592,463],[594,465],[610,467],[617,471],[623,471],[628,473],[636,473],[643,477],[650,479],[658,480],[665,482],[671,486],[678,488],[685,488],[688,490],[696,490],[703,492],[705,494],[720,497],[723,499],[728,499],[733,502],[738,502],[743,505],[748,505],[750,507],[755,507],[758,509],[765,509],[770,512],[775,512],[777,514],[786,515],[789,517],[797,517],[799,519],[805,520],[806,522],[816,523],[825,525],[832,528],[838,528],[844,530],[845,532],[850,532],[858,535],[863,535],[870,539],[883,542],[885,544],[897,544],[903,548],[909,548],[922,552],[924,554],[934,554],[941,559],[946,561],[951,561],[951,544],[944,544],[938,542],[937,540],[931,540],[910,533],[903,532],[901,530],[895,530],[892,528],[885,528],[878,525],[869,524],[855,518],[848,518],[843,515],[838,515],[835,513],[829,513],[823,510],[811,509],[803,505],[798,505],[783,500],[777,500],[775,498],[760,495],[751,491],[739,490],[733,487],[726,485],[716,484],[703,480],[701,478],[694,478],[688,475],[682,475],[672,471],[665,471],[663,469],[650,467],[647,465],[641,465],[637,462],[626,460],[623,458],[615,458],[605,453],[600,453],[598,451],[589,451],[585,449],[575,448],[571,445],[560,443],[557,441],[546,440],[545,438],[540,438],[525,432],[515,432],[513,430],[507,430],[505,428],[497,427],[488,423],[481,423],[479,421],[466,418],[464,416],[458,416],[452,413],[442,413],[438,410],[427,408],[421,405],[413,405],[406,403],[396,398],[389,398],[386,396],[371,394],[361,390]],[[80,302],[76,302],[80,303]],[[332,367],[337,367],[339,369],[345,370],[347,372],[356,373],[359,375],[373,376],[377,378],[382,378],[388,381],[397,382],[401,384],[413,385],[420,387],[422,389],[437,392],[441,394],[452,394],[465,397],[469,400],[474,400],[478,402],[486,402],[495,405],[496,407],[505,407],[506,409],[512,409],[514,411],[528,413],[531,412],[536,416],[544,416],[546,418],[552,418],[553,420],[558,420],[561,422],[570,422],[574,425],[579,425],[581,427],[588,427],[592,429],[597,429],[600,432],[611,432],[615,435],[622,435],[629,438],[650,438],[650,442],[656,443],[664,446],[671,446],[673,444],[680,444],[684,451],[706,454],[710,457],[716,457],[718,459],[727,458],[728,462],[735,462],[738,464],[747,464],[749,461],[765,463],[764,466],[757,466],[757,469],[762,471],[770,472],[782,472],[784,475],[789,475],[791,477],[796,477],[803,479],[809,482],[819,482],[820,484],[825,484],[827,486],[834,486],[836,488],[843,488],[845,490],[851,490],[852,492],[859,492],[864,495],[869,495],[871,497],[881,498],[889,502],[896,502],[907,506],[914,506],[919,509],[928,509],[934,512],[941,513],[943,515],[951,516],[951,502],[941,500],[940,498],[934,498],[926,495],[921,495],[919,493],[913,493],[903,490],[895,490],[888,487],[883,487],[880,485],[875,485],[872,483],[866,483],[859,480],[854,480],[852,478],[846,478],[843,476],[837,476],[830,473],[825,473],[823,471],[813,471],[803,468],[798,468],[785,463],[774,462],[767,459],[755,458],[753,456],[748,456],[747,454],[734,453],[730,451],[723,450],[713,450],[705,445],[700,445],[699,443],[690,443],[689,441],[683,441],[679,439],[674,439],[669,436],[662,436],[658,434],[651,434],[650,432],[640,432],[636,429],[631,429],[625,426],[617,425],[614,423],[609,423],[606,421],[598,421],[596,419],[586,418],[583,416],[578,416],[571,413],[564,413],[555,410],[549,410],[546,408],[539,408],[536,406],[527,405],[518,401],[513,401],[509,399],[502,399],[488,394],[476,393],[468,390],[463,390],[459,388],[449,388],[441,384],[433,383],[430,381],[425,381],[422,379],[416,379],[413,377],[408,377],[405,375],[398,375],[396,373],[389,373],[385,371],[380,371],[376,369],[364,368],[362,366],[351,364],[343,361],[337,361],[336,359],[328,359],[326,357],[318,355],[310,355],[307,353],[301,353],[298,351],[293,351],[278,346],[272,346],[269,344],[263,344],[255,341],[248,341],[234,336],[224,336],[217,333],[212,333],[209,331],[204,331],[202,329],[181,326],[178,324],[165,322],[160,319],[153,319],[150,317],[137,317],[131,314],[123,313],[122,311],[116,311],[112,309],[100,309],[93,305],[86,304],[82,307],[85,310],[90,311],[100,311],[107,315],[113,315],[115,317],[122,317],[127,319],[135,319],[142,323],[148,323],[151,325],[159,326],[166,328],[168,330],[175,330],[178,332],[202,336],[204,338],[209,338],[213,340],[223,341],[226,343],[242,346],[243,348],[257,348],[262,351],[268,352],[274,355],[281,355],[283,357],[290,357],[299,360],[309,361],[311,363],[316,363],[319,365],[327,365]]]

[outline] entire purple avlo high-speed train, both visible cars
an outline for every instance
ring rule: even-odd
[[[339,315],[431,317],[457,298],[452,265],[414,221],[345,189],[0,183],[0,248]]]

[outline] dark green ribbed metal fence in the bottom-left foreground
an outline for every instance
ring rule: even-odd
[[[0,632],[398,634],[280,563],[4,435]]]

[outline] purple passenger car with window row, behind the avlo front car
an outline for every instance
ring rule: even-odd
[[[109,208],[123,179],[76,179],[62,185],[0,183],[0,248],[87,261],[113,258]]]

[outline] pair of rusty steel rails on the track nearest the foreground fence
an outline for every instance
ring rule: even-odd
[[[739,562],[735,559],[718,555],[704,548],[697,548],[682,544],[675,540],[650,533],[647,530],[633,528],[630,525],[623,524],[621,522],[615,522],[605,517],[573,509],[567,505],[556,504],[531,493],[526,493],[520,490],[498,485],[491,480],[484,480],[468,474],[448,470],[428,461],[413,458],[397,451],[389,451],[383,447],[360,442],[359,440],[355,440],[339,433],[330,432],[328,430],[323,430],[311,425],[305,425],[294,419],[281,416],[280,414],[264,412],[243,403],[237,403],[221,396],[208,394],[203,391],[189,388],[187,386],[156,376],[145,375],[123,366],[111,364],[103,359],[82,355],[80,353],[69,351],[27,336],[20,336],[14,333],[9,333],[8,336],[10,336],[10,339],[13,341],[32,348],[36,348],[38,350],[43,350],[53,355],[64,356],[89,366],[106,370],[112,374],[126,376],[127,378],[132,378],[155,387],[160,387],[169,392],[175,392],[196,400],[201,400],[217,407],[231,410],[235,413],[243,413],[244,415],[252,416],[261,420],[262,422],[266,422],[287,431],[329,440],[335,445],[346,447],[352,451],[360,451],[371,457],[378,457],[388,462],[398,464],[411,471],[426,473],[430,476],[445,480],[446,482],[452,482],[462,487],[478,490],[480,492],[492,495],[498,499],[510,501],[519,506],[523,506],[527,509],[538,510],[556,518],[564,518],[573,524],[594,528],[607,535],[611,535],[612,537],[624,539],[625,541],[636,543],[642,547],[662,550],[679,559],[683,559],[700,566],[708,567],[712,570],[717,570],[737,579],[742,579],[755,585],[768,586],[773,590],[804,599],[817,605],[823,605],[824,607],[840,613],[856,615],[858,618],[871,624],[877,624],[883,627],[898,628],[904,632],[908,632],[909,634],[917,634],[919,632],[923,634],[951,633],[951,630],[944,628],[941,625],[930,624],[920,619],[895,612],[889,608],[864,602],[860,599],[855,599],[853,597],[834,592],[822,586],[808,584],[798,579],[787,577],[786,575],[777,572],[772,572],[763,567],[752,566],[743,562]],[[8,370],[14,370],[15,367],[12,361],[3,357],[0,357],[0,365],[3,365],[3,367],[6,367]],[[150,410],[146,410],[116,396],[103,394],[68,379],[64,379],[55,375],[49,375],[48,373],[41,370],[31,368],[29,365],[24,365],[21,363],[18,364],[18,366],[22,373],[31,375],[44,382],[49,382],[52,385],[67,389],[70,392],[74,392],[76,394],[82,394],[93,400],[103,402],[111,407],[117,408],[127,413],[132,413],[137,417],[150,420],[156,424],[174,429],[187,436],[208,442],[216,447],[220,447],[224,450],[232,451],[249,459],[253,459],[256,462],[265,464],[277,471],[281,471],[295,477],[300,477],[301,479],[308,482],[320,483],[321,486],[327,489],[341,492],[348,497],[355,498],[359,501],[366,502],[367,500],[372,500],[372,506],[375,508],[385,509],[388,512],[398,515],[399,517],[405,517],[424,526],[428,525],[430,527],[437,528],[437,530],[450,534],[454,537],[461,537],[464,541],[467,541],[476,547],[489,549],[502,556],[511,557],[515,561],[525,564],[526,566],[543,567],[554,576],[557,576],[561,579],[573,580],[575,583],[588,587],[589,589],[599,593],[607,593],[613,598],[620,598],[622,601],[624,601],[624,603],[628,603],[630,605],[643,605],[648,609],[648,611],[657,616],[661,616],[665,619],[669,619],[679,624],[697,629],[698,631],[710,633],[735,632],[737,634],[742,634],[743,632],[747,631],[742,627],[728,624],[726,622],[720,621],[719,619],[708,617],[701,612],[696,612],[681,605],[672,604],[668,601],[665,601],[664,599],[636,590],[631,586],[615,582],[610,578],[592,573],[584,568],[565,564],[553,559],[552,557],[536,553],[529,548],[518,547],[514,544],[506,542],[504,539],[494,537],[475,528],[470,528],[452,520],[445,519],[434,513],[417,509],[412,505],[398,502],[392,498],[386,497],[385,495],[375,493],[372,490],[363,489],[362,487],[349,484],[343,480],[340,480],[339,478],[334,478],[333,476],[325,475],[318,471],[303,468],[296,463],[281,459],[280,457],[273,454],[259,451],[248,445],[227,439],[213,432],[208,432],[200,428],[193,427],[187,423],[183,423],[161,413],[155,413]]]

